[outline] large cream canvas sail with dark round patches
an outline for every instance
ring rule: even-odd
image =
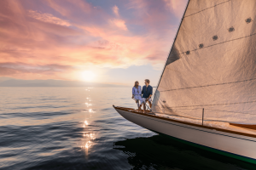
[[[256,1],[190,0],[153,111],[256,124]]]

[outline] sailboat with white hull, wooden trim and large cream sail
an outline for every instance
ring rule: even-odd
[[[189,0],[152,113],[114,109],[155,133],[256,164],[255,8],[255,0]]]

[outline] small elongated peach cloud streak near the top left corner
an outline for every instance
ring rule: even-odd
[[[67,20],[61,20],[52,14],[47,14],[47,13],[43,14],[43,13],[38,13],[37,11],[28,10],[28,16],[37,20],[49,22],[56,25],[71,26],[71,24]]]

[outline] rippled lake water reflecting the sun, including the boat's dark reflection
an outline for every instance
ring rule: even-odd
[[[0,88],[0,169],[256,169],[126,121],[131,88]]]

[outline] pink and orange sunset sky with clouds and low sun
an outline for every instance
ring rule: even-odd
[[[0,77],[156,85],[187,0],[1,0]]]

